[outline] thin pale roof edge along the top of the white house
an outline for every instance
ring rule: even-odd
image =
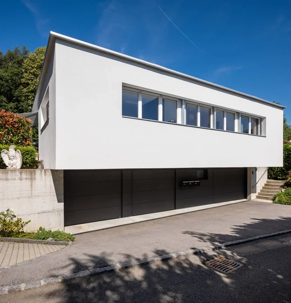
[[[166,67],[163,67],[163,66],[160,66],[160,65],[157,65],[157,64],[154,64],[154,63],[150,63],[150,62],[138,59],[138,58],[134,58],[134,57],[125,55],[125,54],[114,52],[114,51],[111,51],[110,49],[107,49],[107,48],[104,48],[104,47],[101,47],[101,46],[97,46],[97,45],[94,45],[94,44],[91,44],[91,43],[88,43],[88,42],[84,42],[84,41],[81,41],[81,40],[78,40],[78,39],[75,39],[75,38],[71,38],[69,36],[65,36],[65,35],[55,33],[55,32],[52,32],[52,31],[49,34],[46,53],[48,53],[49,46],[52,43],[54,43],[56,38],[71,42],[73,44],[81,45],[81,46],[84,46],[84,47],[87,47],[87,48],[95,49],[95,50],[97,50],[101,53],[110,54],[110,55],[113,55],[115,57],[119,57],[119,58],[123,58],[123,59],[129,60],[129,61],[132,61],[132,62],[140,63],[142,65],[149,66],[149,67],[154,68],[156,70],[167,72],[167,73],[170,73],[172,75],[177,75],[179,77],[183,77],[185,79],[195,81],[195,82],[201,83],[203,85],[207,85],[207,86],[210,86],[210,87],[213,87],[213,88],[218,88],[220,90],[230,92],[230,93],[234,93],[234,94],[237,94],[237,95],[240,95],[240,96],[243,96],[243,97],[251,98],[253,100],[256,100],[256,101],[259,101],[259,102],[262,102],[262,103],[266,103],[266,104],[271,105],[271,106],[276,107],[276,108],[280,108],[280,109],[285,109],[286,108],[286,107],[284,107],[280,104],[276,104],[276,103],[264,100],[262,98],[259,98],[259,97],[256,97],[256,96],[253,96],[253,95],[250,95],[250,94],[247,94],[247,93],[235,90],[235,89],[227,88],[225,86],[221,86],[221,85],[218,85],[218,84],[206,81],[206,80],[202,80],[202,79],[199,79],[199,78],[196,78],[196,77],[193,77],[193,76],[181,73],[181,72],[177,72],[177,71],[168,69]],[[45,57],[44,57],[44,61],[45,61]],[[44,64],[43,64],[43,66],[44,66]],[[41,81],[42,72],[43,71],[41,71],[39,83]],[[36,96],[37,96],[37,94],[36,94]],[[36,96],[35,96],[34,102],[36,100]],[[33,110],[35,110],[34,109],[34,104],[33,104]]]

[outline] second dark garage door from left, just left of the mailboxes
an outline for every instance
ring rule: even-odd
[[[133,170],[132,215],[150,214],[175,208],[173,169]]]

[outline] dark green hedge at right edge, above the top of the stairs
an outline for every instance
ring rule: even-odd
[[[268,169],[268,179],[285,180],[290,170],[291,170],[291,143],[286,143],[283,144],[283,167],[270,167]]]

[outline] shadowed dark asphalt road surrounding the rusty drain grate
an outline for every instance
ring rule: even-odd
[[[245,266],[229,274],[191,256],[0,296],[8,302],[291,302],[291,233],[216,251]]]

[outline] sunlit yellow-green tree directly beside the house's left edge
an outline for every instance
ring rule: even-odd
[[[22,96],[25,107],[31,111],[46,47],[38,47],[23,62]]]

